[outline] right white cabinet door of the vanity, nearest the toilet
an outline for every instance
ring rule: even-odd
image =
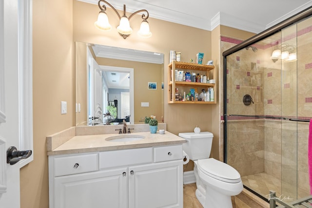
[[[129,208],[183,208],[182,160],[129,167]]]

